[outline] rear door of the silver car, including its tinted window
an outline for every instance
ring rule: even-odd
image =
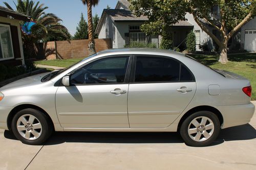
[[[187,107],[195,92],[193,74],[178,60],[135,56],[128,94],[130,127],[168,127]]]

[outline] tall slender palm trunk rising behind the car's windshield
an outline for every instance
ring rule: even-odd
[[[94,45],[94,32],[93,32],[93,17],[92,17],[92,6],[96,6],[99,0],[81,0],[83,5],[87,5],[87,15],[88,15],[88,49],[89,55],[95,54]]]

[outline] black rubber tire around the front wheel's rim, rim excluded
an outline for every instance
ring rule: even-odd
[[[39,137],[36,139],[33,139],[33,140],[26,139],[17,130],[17,121],[18,121],[19,117],[27,115],[27,114],[35,116],[41,125]],[[52,134],[52,131],[53,131],[53,127],[52,127],[47,115],[45,115],[44,113],[42,113],[36,109],[31,109],[31,108],[20,110],[19,112],[17,112],[14,115],[14,117],[12,119],[12,123],[11,123],[11,129],[13,131],[13,134],[15,135],[15,137],[18,140],[22,141],[25,144],[31,144],[31,145],[42,144],[50,137],[50,135]],[[22,131],[22,132],[26,133],[26,130]]]

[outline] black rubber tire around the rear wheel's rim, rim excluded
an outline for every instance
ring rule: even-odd
[[[188,126],[190,125],[191,121],[193,121],[195,118],[200,117],[200,116],[209,118],[212,121],[212,123],[214,124],[214,131],[212,132],[211,136],[208,139],[204,139],[204,141],[196,141],[196,140],[192,139],[188,134]],[[184,120],[184,122],[182,123],[181,128],[180,128],[180,135],[183,138],[184,142],[191,147],[206,147],[207,145],[211,144],[218,137],[218,135],[220,133],[220,128],[221,128],[220,121],[219,121],[218,116],[215,113],[212,113],[210,111],[198,111],[198,112],[195,112],[195,113],[189,115]],[[199,131],[197,133],[200,133],[200,132],[201,131]],[[197,133],[195,133],[195,135]],[[201,137],[204,138],[204,135],[202,135]]]

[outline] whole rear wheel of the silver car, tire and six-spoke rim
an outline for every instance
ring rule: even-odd
[[[210,111],[199,111],[188,116],[181,125],[180,134],[187,145],[205,147],[219,135],[220,121]]]

